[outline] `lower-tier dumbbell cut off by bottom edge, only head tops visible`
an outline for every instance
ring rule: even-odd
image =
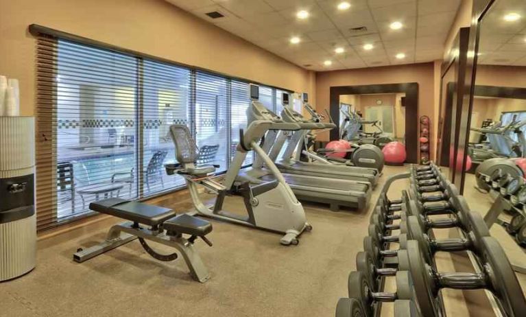
[[[339,298],[336,305],[336,317],[368,316],[356,298]],[[414,301],[397,299],[394,301],[394,317],[420,317]]]

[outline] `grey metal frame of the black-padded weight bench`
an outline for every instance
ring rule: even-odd
[[[77,253],[73,254],[73,260],[82,263],[140,237],[175,248],[187,263],[191,277],[201,283],[208,281],[210,273],[204,266],[199,253],[193,247],[193,243],[182,235],[166,235],[162,225],[159,228],[158,231],[154,231],[130,221],[115,224],[108,231],[104,242],[85,250],[77,250]]]

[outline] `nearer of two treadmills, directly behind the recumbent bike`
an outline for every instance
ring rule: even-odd
[[[247,109],[249,124],[254,120],[270,120],[276,124],[276,127],[271,126],[269,132],[271,132],[271,134],[279,133],[281,131],[279,126],[283,126],[285,121],[265,108],[265,106],[258,101],[259,93],[257,89],[250,89],[250,94],[252,103]],[[315,123],[298,123],[298,126],[302,129],[311,129],[316,126],[319,127],[320,125]],[[269,134],[269,132],[267,132],[267,134]],[[265,136],[265,138],[267,138],[267,136]],[[272,142],[263,142],[263,150],[270,150],[270,148],[272,148],[272,146],[269,145],[270,143]],[[369,182],[283,172],[281,172],[281,174],[299,200],[329,204],[331,210],[337,211],[340,207],[363,209],[370,200],[372,185]],[[237,185],[246,182],[261,184],[271,180],[274,180],[274,176],[258,156],[254,159],[252,167],[241,170],[236,177]]]

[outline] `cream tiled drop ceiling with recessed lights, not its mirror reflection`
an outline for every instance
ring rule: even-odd
[[[338,11],[336,6],[341,0],[166,1],[314,71],[440,59],[460,3],[460,0],[348,0],[350,9]],[[295,17],[298,10],[308,10],[311,16],[298,21]],[[205,13],[212,11],[225,17],[210,19]],[[403,30],[390,30],[389,24],[397,20],[403,21]],[[349,29],[362,25],[368,27],[368,32],[352,36]],[[292,35],[300,36],[302,42],[291,45]],[[375,47],[365,51],[363,43]],[[335,54],[338,46],[346,52]],[[397,60],[394,57],[397,53],[404,53],[406,58]],[[326,67],[324,60],[332,60],[333,64]]]

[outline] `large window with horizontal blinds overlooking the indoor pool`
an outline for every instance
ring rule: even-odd
[[[89,213],[109,197],[142,199],[184,186],[172,124],[188,126],[198,164],[225,172],[246,129],[248,82],[70,40],[39,38],[38,228]],[[261,86],[276,110],[276,89]],[[56,136],[56,137],[55,137]],[[250,165],[250,153],[245,165]]]

